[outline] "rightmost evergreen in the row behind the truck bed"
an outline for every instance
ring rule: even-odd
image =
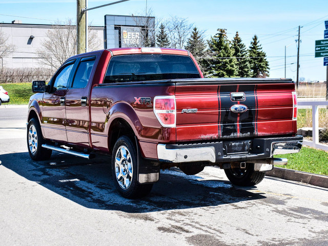
[[[251,57],[251,69],[253,78],[265,78],[269,75],[269,62],[259,44],[258,38],[254,35],[249,49],[249,56]]]

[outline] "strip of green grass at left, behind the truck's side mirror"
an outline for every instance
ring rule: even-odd
[[[32,83],[0,84],[10,96],[8,104],[28,104],[32,92]],[[7,104],[4,104],[7,105]]]

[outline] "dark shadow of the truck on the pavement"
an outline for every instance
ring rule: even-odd
[[[33,161],[28,152],[23,152],[0,155],[0,160],[1,165],[20,176],[91,209],[145,213],[265,198],[260,193],[234,188],[224,180],[204,180],[169,170],[160,174],[150,195],[130,200],[116,191],[107,156],[86,160],[54,153],[47,161]]]

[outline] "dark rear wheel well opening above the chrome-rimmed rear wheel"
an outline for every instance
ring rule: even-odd
[[[109,132],[108,132],[108,149],[110,151],[110,153],[113,152],[113,148],[115,145],[115,142],[117,141],[117,139],[120,136],[127,136],[129,137],[132,142],[134,143],[134,131],[132,130],[131,126],[129,125],[129,123],[122,119],[122,118],[118,118],[118,119],[114,119],[110,128],[109,128]]]

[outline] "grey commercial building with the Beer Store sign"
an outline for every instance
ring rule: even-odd
[[[12,52],[0,57],[0,68],[47,66],[42,61],[43,43],[49,39],[47,33],[58,27],[65,28],[65,25],[24,24],[20,20],[0,23],[0,31],[7,38],[6,45],[14,47]],[[90,27],[97,39],[92,50],[154,45],[154,28],[154,17],[105,15],[105,26]]]

